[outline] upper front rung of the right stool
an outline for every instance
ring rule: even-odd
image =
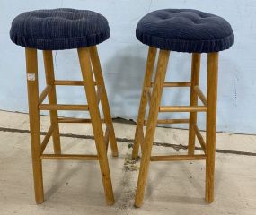
[[[206,112],[205,106],[163,106],[159,112]]]

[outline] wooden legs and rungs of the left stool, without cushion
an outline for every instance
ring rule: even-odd
[[[110,168],[107,150],[110,142],[112,156],[118,156],[117,142],[110,116],[110,107],[102,76],[102,68],[97,47],[78,48],[78,56],[83,75],[83,81],[55,80],[53,57],[51,50],[43,51],[46,88],[39,95],[37,49],[26,47],[27,86],[31,128],[31,155],[34,177],[34,191],[37,203],[44,202],[42,159],[75,159],[99,160],[102,172],[102,183],[107,204],[115,202],[112,191]],[[94,81],[94,78],[95,81]],[[88,105],[59,105],[57,104],[56,85],[84,86]],[[97,91],[95,90],[97,87]],[[49,104],[42,104],[48,96]],[[102,104],[104,120],[101,119],[99,103]],[[40,110],[49,110],[50,127],[42,142],[40,142]],[[89,111],[91,119],[59,118],[57,110]],[[106,124],[105,135],[102,122]],[[62,154],[58,123],[92,123],[93,134],[97,149],[96,155]],[[44,154],[44,150],[53,139],[54,154]]]

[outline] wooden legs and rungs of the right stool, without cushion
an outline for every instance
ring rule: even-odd
[[[148,175],[149,161],[172,161],[172,160],[201,160],[206,159],[206,201],[214,200],[214,172],[215,172],[215,150],[216,150],[216,98],[217,98],[217,72],[218,53],[207,54],[207,98],[199,89],[199,53],[192,54],[191,80],[190,82],[164,82],[169,61],[170,51],[160,50],[158,64],[152,82],[154,62],[157,49],[149,47],[146,74],[137,116],[137,128],[135,142],[132,151],[134,159],[138,156],[139,145],[141,145],[142,158],[140,162],[139,176],[137,180],[137,193],[135,206],[140,207],[143,203],[146,179]],[[190,106],[165,106],[161,107],[163,87],[190,87]],[[198,105],[198,98],[202,106]],[[147,120],[146,104],[149,104]],[[166,119],[158,120],[159,112],[190,112],[189,119]],[[206,142],[199,132],[197,126],[197,112],[207,113],[207,135]],[[189,124],[189,147],[188,155],[151,156],[154,142],[154,132],[157,124]],[[143,125],[146,125],[144,135]],[[197,136],[204,154],[195,155],[195,137]]]

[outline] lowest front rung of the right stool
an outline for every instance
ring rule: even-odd
[[[201,160],[206,158],[206,155],[167,155],[151,156],[150,161]]]

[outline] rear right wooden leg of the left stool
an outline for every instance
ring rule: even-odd
[[[90,50],[91,61],[93,64],[93,73],[95,76],[95,81],[97,82],[97,85],[102,87],[102,99],[101,99],[102,110],[103,110],[106,123],[110,125],[110,147],[112,150],[112,156],[118,157],[119,150],[118,150],[114,126],[113,126],[113,122],[110,114],[110,105],[109,105],[105,83],[102,75],[102,67],[101,67],[101,62],[98,55],[97,47],[96,46],[90,47],[89,50]]]

